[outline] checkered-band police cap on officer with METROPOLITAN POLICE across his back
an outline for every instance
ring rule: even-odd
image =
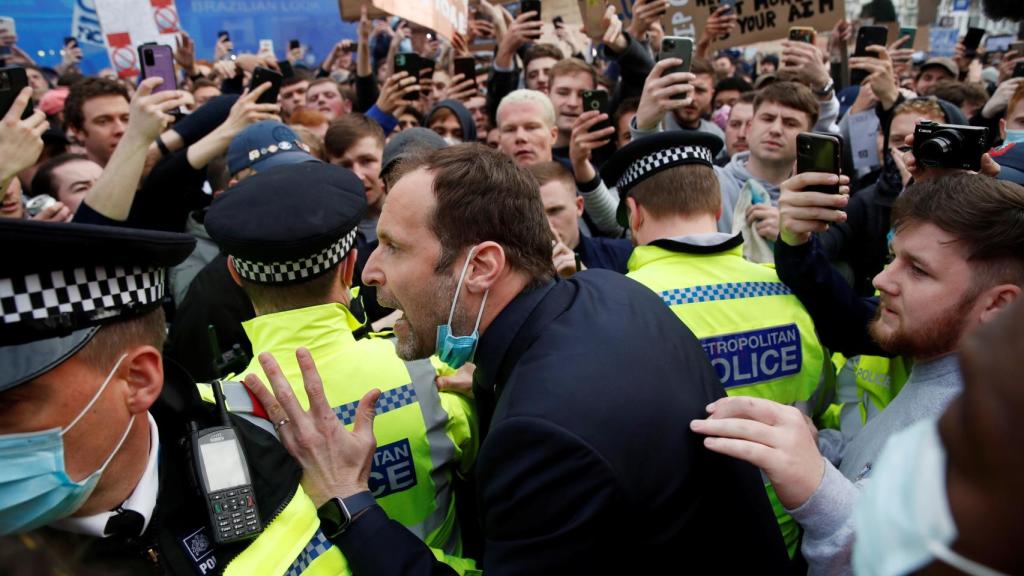
[[[701,164],[714,167],[722,138],[695,130],[669,130],[635,139],[601,166],[601,177],[618,189],[618,223],[629,228],[626,196],[630,189],[673,166]]]

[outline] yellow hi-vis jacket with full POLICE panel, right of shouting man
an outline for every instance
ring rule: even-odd
[[[740,236],[716,246],[657,240],[634,249],[628,266],[700,340],[727,395],[817,411],[815,393],[831,371],[814,323],[774,269],[743,259]],[[766,485],[793,556],[800,528]]]

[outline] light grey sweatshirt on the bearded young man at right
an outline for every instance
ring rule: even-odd
[[[839,468],[825,459],[817,490],[788,510],[804,528],[810,574],[853,573],[853,510],[886,441],[919,420],[938,418],[963,389],[956,355],[915,364],[899,395],[843,447]]]

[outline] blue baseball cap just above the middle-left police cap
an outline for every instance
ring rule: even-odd
[[[274,166],[319,162],[309,154],[302,138],[281,122],[257,122],[239,132],[227,147],[227,172],[238,174],[246,168],[257,172]]]

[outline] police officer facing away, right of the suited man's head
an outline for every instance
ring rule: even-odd
[[[721,147],[712,135],[676,130],[636,140],[605,164],[601,173],[622,199],[620,223],[637,245],[628,276],[700,339],[727,395],[816,413],[812,397],[830,364],[810,316],[774,270],[743,259],[741,235],[716,228],[722,197],[712,162]],[[799,527],[769,496],[793,556]]]

